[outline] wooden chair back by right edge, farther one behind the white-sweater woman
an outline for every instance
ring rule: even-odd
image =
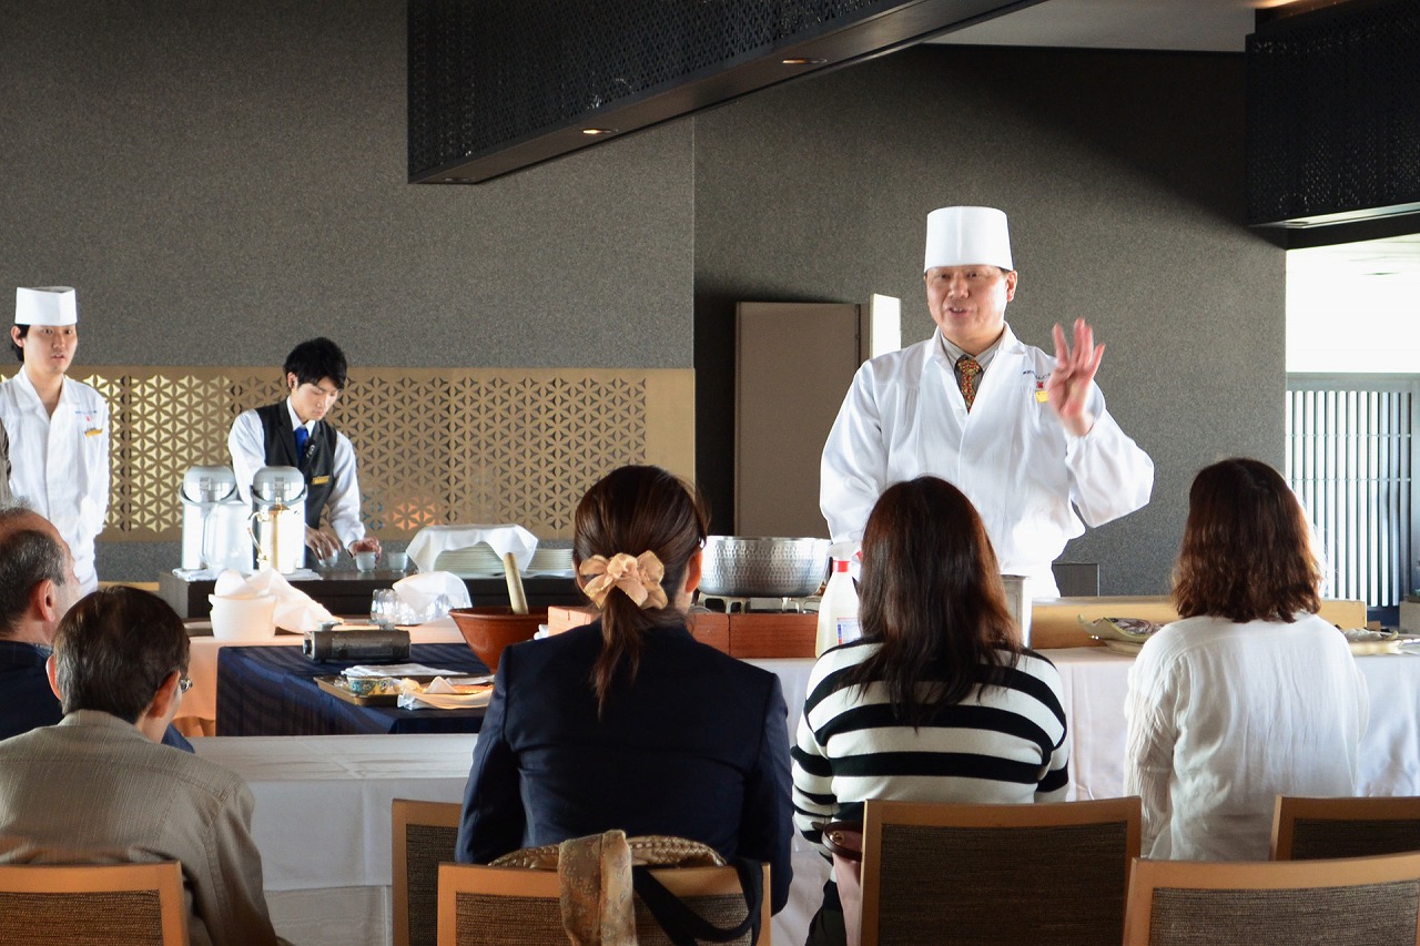
[[[1362,858],[1420,851],[1420,798],[1277,797],[1272,859]]]

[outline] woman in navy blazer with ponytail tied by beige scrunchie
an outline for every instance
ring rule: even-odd
[[[498,660],[459,830],[459,861],[622,828],[771,866],[788,899],[790,763],[778,679],[690,636],[709,516],[655,466],[577,507],[572,561],[601,616]]]

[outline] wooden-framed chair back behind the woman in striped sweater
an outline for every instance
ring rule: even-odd
[[[862,946],[1118,946],[1139,825],[1133,797],[1035,805],[868,801]]]

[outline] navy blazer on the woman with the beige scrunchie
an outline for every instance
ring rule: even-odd
[[[503,652],[473,753],[457,858],[622,828],[767,861],[788,901],[794,834],[778,678],[690,636],[645,636],[635,683],[618,673],[602,719],[591,672],[601,624]]]

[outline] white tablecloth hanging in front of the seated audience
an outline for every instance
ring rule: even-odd
[[[1047,656],[1064,680],[1071,797],[1119,795],[1132,658],[1102,648]],[[750,663],[778,675],[792,739],[814,662]],[[1362,791],[1420,794],[1420,658],[1366,656],[1358,666],[1370,689]],[[256,794],[253,831],[277,932],[302,946],[383,946],[390,930],[389,803],[460,801],[474,741],[474,736],[322,736],[199,739],[195,746],[243,776]],[[824,859],[795,838],[794,885],[788,906],[774,918],[774,942],[804,942],[825,879]]]

